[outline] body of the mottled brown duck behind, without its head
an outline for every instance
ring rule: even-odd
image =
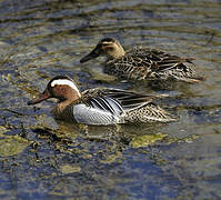
[[[108,60],[106,72],[132,80],[175,79],[199,82],[203,77],[197,74],[192,60],[155,49],[134,48],[121,58]]]

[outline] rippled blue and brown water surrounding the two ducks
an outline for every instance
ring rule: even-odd
[[[220,199],[221,1],[0,1],[1,199]],[[79,60],[103,37],[195,58],[207,81],[154,90],[107,79]],[[169,93],[169,124],[56,121],[52,100],[27,101],[54,76],[83,90]],[[154,90],[154,91],[153,91]]]

